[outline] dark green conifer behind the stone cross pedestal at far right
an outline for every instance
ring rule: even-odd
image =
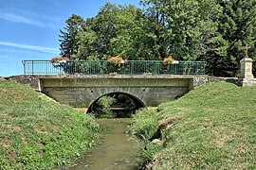
[[[249,46],[248,56],[256,59],[256,1],[255,0],[218,0],[223,8],[216,19],[218,32],[228,42],[227,56],[217,59],[216,76],[235,76],[240,60],[246,57],[245,47]]]

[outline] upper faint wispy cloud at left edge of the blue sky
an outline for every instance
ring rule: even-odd
[[[23,23],[32,26],[45,27],[46,24],[36,21],[34,19],[17,15],[15,13],[1,13],[0,18],[13,23]]]

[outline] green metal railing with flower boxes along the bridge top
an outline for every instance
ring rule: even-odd
[[[23,60],[25,75],[204,75],[205,61],[178,61],[164,65],[162,60],[128,60],[113,64],[107,60],[67,60],[51,63],[48,60]]]

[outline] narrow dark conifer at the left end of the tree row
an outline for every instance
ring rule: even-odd
[[[77,34],[82,28],[84,21],[81,16],[72,14],[66,21],[64,30],[60,30],[60,50],[61,56],[71,58],[73,54],[78,53]]]

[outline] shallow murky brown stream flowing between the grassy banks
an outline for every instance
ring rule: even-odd
[[[137,143],[126,133],[130,118],[98,119],[102,127],[108,130],[99,139],[95,147],[76,161],[72,170],[136,170]]]

